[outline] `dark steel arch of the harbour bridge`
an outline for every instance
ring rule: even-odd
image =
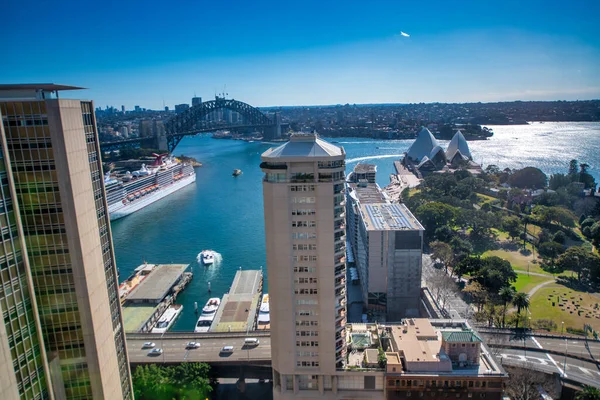
[[[257,127],[272,127],[276,125],[262,111],[250,104],[217,97],[215,100],[190,107],[188,110],[177,114],[165,122],[169,151],[173,151],[184,136],[198,133],[202,129],[199,124],[204,122],[204,118],[207,115],[223,109],[238,112],[246,119],[247,125]],[[227,127],[224,126],[223,128]]]

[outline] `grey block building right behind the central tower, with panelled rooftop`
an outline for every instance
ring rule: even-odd
[[[349,183],[347,199],[348,238],[364,304],[387,321],[418,317],[423,227],[376,183]]]

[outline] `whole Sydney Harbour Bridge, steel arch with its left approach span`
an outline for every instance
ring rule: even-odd
[[[237,112],[241,121],[236,123],[215,121],[219,111]],[[173,152],[181,139],[202,132],[214,132],[220,129],[239,131],[252,129],[262,133],[264,139],[281,137],[281,120],[278,113],[267,116],[258,108],[238,100],[216,97],[177,114],[164,121],[164,130],[155,130],[152,135],[132,139],[114,140],[100,143],[103,151],[112,151],[129,147],[145,147]]]

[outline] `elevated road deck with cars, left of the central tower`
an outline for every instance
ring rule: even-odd
[[[244,337],[208,337],[208,338],[163,338],[160,335],[152,340],[127,339],[129,362],[132,364],[145,363],[181,363],[206,362],[209,364],[271,364],[271,338],[259,337],[260,344],[256,347],[243,347]],[[191,336],[191,335],[190,335]],[[151,349],[142,348],[144,343],[152,341],[156,348],[162,348],[161,355],[148,355]],[[197,349],[186,349],[190,341],[200,343]],[[233,346],[233,353],[221,353],[223,346]]]

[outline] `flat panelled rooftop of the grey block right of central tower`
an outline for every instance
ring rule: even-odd
[[[424,230],[404,204],[361,204],[360,210],[368,231]]]

